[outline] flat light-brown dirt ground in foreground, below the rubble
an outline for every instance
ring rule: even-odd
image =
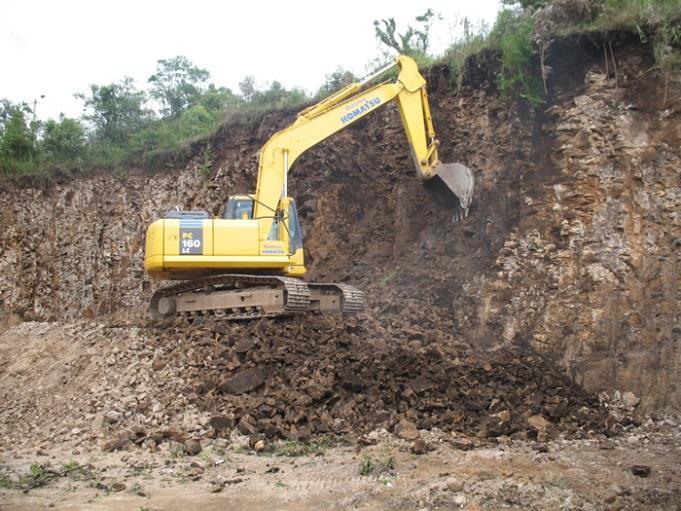
[[[375,433],[373,446],[283,442],[260,454],[238,439],[216,440],[196,456],[172,446],[153,453],[4,446],[0,509],[681,509],[681,430],[669,418],[616,439],[472,450],[431,432],[424,435],[434,449],[423,455]]]

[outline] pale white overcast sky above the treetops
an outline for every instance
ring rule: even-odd
[[[75,93],[124,76],[146,88],[156,61],[176,55],[235,92],[247,75],[316,92],[339,66],[367,73],[381,55],[374,20],[394,17],[399,31],[428,8],[443,18],[432,32],[438,53],[464,17],[491,24],[498,0],[5,0],[0,98],[36,101],[41,119],[79,117]]]

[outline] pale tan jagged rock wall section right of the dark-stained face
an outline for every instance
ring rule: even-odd
[[[644,70],[622,67],[624,90],[592,69],[582,93],[549,109],[558,172],[523,187],[478,317],[501,318],[484,322],[485,338],[529,340],[587,388],[678,406],[681,127],[640,87]]]

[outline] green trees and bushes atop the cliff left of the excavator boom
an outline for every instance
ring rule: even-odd
[[[207,70],[186,57],[161,59],[149,77],[148,92],[124,77],[76,94],[85,110],[81,119],[60,116],[41,122],[27,103],[0,100],[0,178],[160,165],[215,133],[235,114],[310,100],[302,89],[286,89],[277,81],[260,89],[246,77],[241,94],[235,94],[208,83],[209,78]],[[327,87],[347,79],[334,75]],[[201,170],[210,174],[215,154],[206,150],[203,156]]]

